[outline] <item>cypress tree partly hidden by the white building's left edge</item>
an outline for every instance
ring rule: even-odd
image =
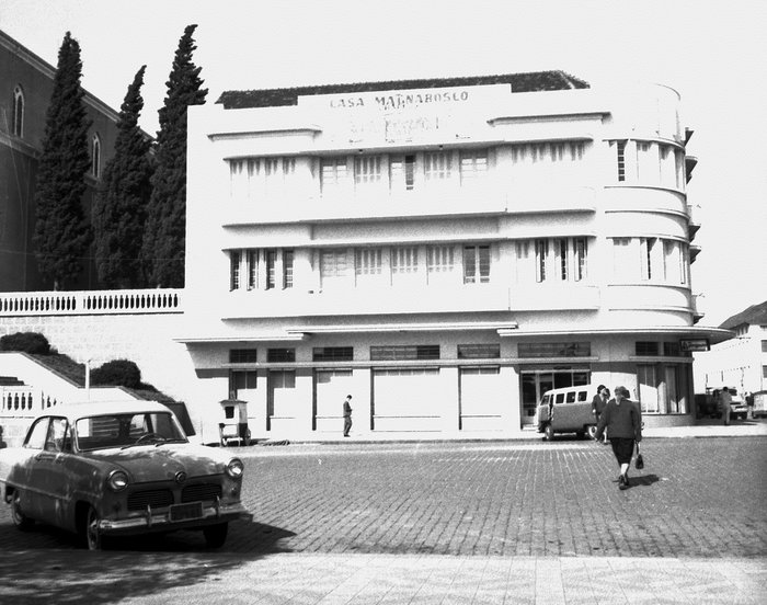
[[[179,42],[168,94],[158,112],[157,170],[147,209],[142,258],[149,285],[184,285],[186,239],[186,109],[205,103],[207,89],[201,89],[201,68],[192,62],[197,48],[192,38],[197,25],[187,25]]]

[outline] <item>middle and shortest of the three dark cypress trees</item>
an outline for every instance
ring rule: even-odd
[[[96,271],[111,288],[145,285],[139,255],[151,193],[151,140],[138,127],[147,66],[136,72],[121,106],[115,155],[104,169],[93,206]]]

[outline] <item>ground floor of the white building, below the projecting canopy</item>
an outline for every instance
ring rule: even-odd
[[[547,390],[589,383],[629,388],[648,425],[692,422],[692,359],[671,340],[489,341],[436,334],[405,344],[210,345],[217,353],[196,355],[217,366],[198,370],[205,391],[216,393],[205,404],[203,438],[216,441],[218,429],[208,427],[221,422],[247,422],[253,438],[341,437],[347,395],[353,435],[503,437],[537,424]],[[227,406],[233,400],[244,404]]]

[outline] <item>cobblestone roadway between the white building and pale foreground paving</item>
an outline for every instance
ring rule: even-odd
[[[631,471],[626,491],[610,447],[587,441],[232,452],[245,460],[243,501],[255,522],[231,525],[231,552],[767,555],[767,437],[645,440],[645,469]],[[202,536],[150,545],[190,541]],[[75,548],[56,530],[18,532],[4,505],[0,544]]]

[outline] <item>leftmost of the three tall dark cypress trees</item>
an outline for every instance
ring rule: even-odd
[[[35,255],[41,274],[53,281],[54,289],[78,278],[92,239],[82,207],[85,173],[91,165],[91,122],[87,119],[81,77],[80,44],[67,32],[58,53],[35,191]]]

